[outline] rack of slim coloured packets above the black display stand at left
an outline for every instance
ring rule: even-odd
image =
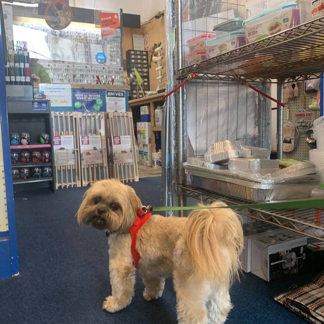
[[[12,42],[8,42],[7,51],[6,85],[31,85],[27,42],[17,42],[15,47]]]

